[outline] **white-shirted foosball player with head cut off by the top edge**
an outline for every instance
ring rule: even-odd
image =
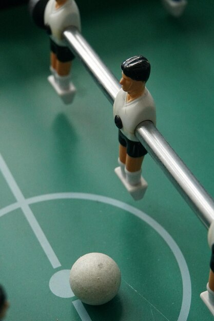
[[[65,40],[63,31],[69,26],[81,30],[79,9],[74,0],[49,0],[45,7],[44,23],[50,36],[50,70],[48,77],[65,104],[72,102],[75,87],[70,82],[70,69],[74,55]]]

